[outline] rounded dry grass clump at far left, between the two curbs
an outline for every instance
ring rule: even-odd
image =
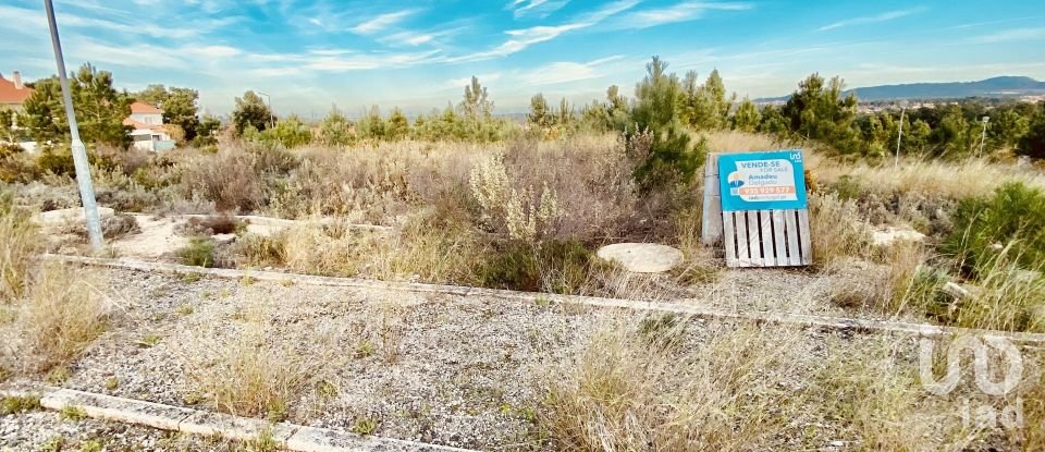
[[[34,274],[16,325],[27,370],[46,370],[79,355],[106,329],[102,294],[83,269],[44,265]]]

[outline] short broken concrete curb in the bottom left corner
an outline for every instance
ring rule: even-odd
[[[135,424],[161,430],[214,436],[249,441],[268,435],[280,447],[298,452],[476,452],[469,449],[404,441],[392,438],[358,436],[342,430],[306,427],[295,424],[271,424],[261,419],[163,405],[134,399],[115,398],[62,388],[40,390],[3,390],[4,396],[39,396],[40,405],[53,411],[76,407],[87,417]]]

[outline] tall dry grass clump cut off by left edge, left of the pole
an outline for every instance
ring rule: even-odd
[[[32,257],[39,248],[28,212],[15,208],[10,194],[0,193],[0,301],[22,296]]]

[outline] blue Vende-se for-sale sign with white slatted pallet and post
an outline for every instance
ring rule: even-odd
[[[705,199],[708,192],[717,188],[721,210],[715,212],[717,206],[705,203],[705,220],[714,221],[716,213],[722,218],[717,239],[725,248],[726,265],[812,264],[802,151],[720,154],[712,160],[717,176],[705,176]],[[706,186],[709,182],[717,187]]]

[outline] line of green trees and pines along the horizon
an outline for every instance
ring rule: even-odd
[[[713,70],[703,81],[696,71],[681,76],[654,57],[631,97],[610,86],[604,99],[579,108],[561,99],[550,102],[542,94],[530,99],[524,124],[494,114],[494,102],[477,77],[465,86],[462,99],[443,109],[408,119],[398,108],[388,114],[378,106],[351,120],[334,108],[318,124],[296,115],[275,118],[255,91],[235,99],[229,129],[249,141],[295,147],[308,143],[345,146],[369,141],[468,141],[494,142],[528,133],[554,139],[573,133],[616,131],[631,137],[648,134],[649,164],[643,172],[677,171],[689,174],[700,164],[702,143],[691,143],[691,131],[736,130],[772,134],[785,139],[821,143],[844,155],[882,158],[895,152],[896,137],[903,154],[933,158],[961,158],[979,154],[983,124],[988,115],[984,154],[1011,150],[1045,158],[1045,102],[1003,102],[967,99],[941,102],[907,111],[899,109],[860,113],[855,95],[845,95],[841,78],[812,74],[779,106],[757,106],[750,99],[728,94],[722,76]],[[37,143],[67,142],[67,120],[58,77],[28,84],[33,95],[23,112],[13,118],[0,111],[0,137],[32,138]],[[137,100],[163,109],[163,120],[175,139],[196,146],[213,144],[222,130],[214,117],[199,115],[198,91],[192,88],[150,85],[139,93],[116,90],[112,73],[85,64],[70,78],[73,106],[86,143],[130,145],[130,127],[123,125],[131,102]],[[12,121],[14,120],[14,121]],[[16,122],[19,127],[11,127]]]

